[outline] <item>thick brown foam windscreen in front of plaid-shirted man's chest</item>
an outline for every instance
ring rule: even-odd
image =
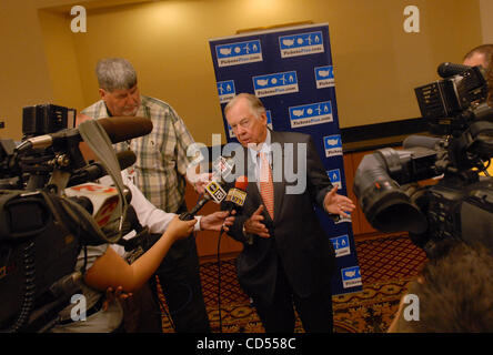
[[[152,132],[152,121],[139,116],[113,116],[99,119],[98,121],[111,143],[128,141]]]

